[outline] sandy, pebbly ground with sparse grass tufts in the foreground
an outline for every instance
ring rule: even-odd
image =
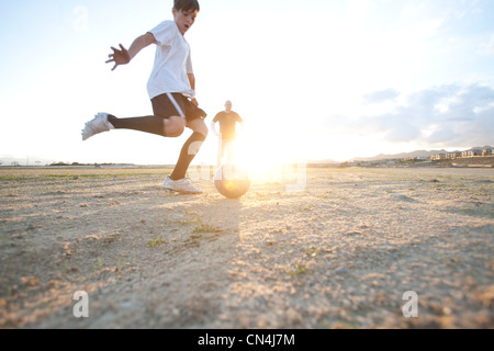
[[[494,327],[494,170],[311,169],[239,200],[167,172],[0,170],[0,326]]]

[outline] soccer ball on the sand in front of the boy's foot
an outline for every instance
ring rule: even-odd
[[[223,165],[214,174],[214,185],[225,197],[238,199],[249,190],[248,172],[236,165]]]

